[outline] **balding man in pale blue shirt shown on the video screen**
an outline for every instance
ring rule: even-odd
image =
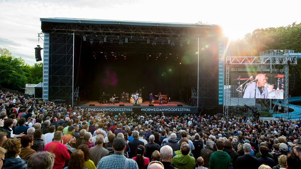
[[[249,85],[244,91],[243,98],[255,98],[255,87],[256,87],[256,98],[269,98],[268,88],[264,85],[267,83],[267,77],[260,73],[256,76],[256,82]]]

